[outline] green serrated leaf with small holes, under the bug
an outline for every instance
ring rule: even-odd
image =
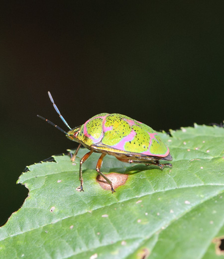
[[[0,258],[220,258],[215,243],[224,236],[224,129],[195,125],[171,134],[160,136],[172,168],[105,157],[102,172],[128,176],[113,194],[96,180],[97,153],[84,163],[85,192],[76,190],[87,149],[76,164],[61,155],[29,166],[18,180],[29,196],[0,228]]]

